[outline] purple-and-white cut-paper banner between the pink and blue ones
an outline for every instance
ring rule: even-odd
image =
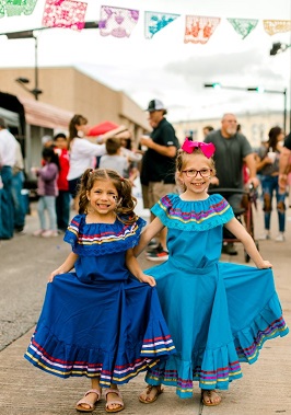
[[[98,23],[100,34],[102,36],[129,37],[138,20],[138,10],[102,5]]]

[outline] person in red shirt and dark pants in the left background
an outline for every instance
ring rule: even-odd
[[[56,198],[56,212],[58,231],[66,232],[70,220],[70,201],[69,183],[67,180],[70,159],[68,152],[68,140],[63,132],[59,132],[54,137],[54,150],[59,157],[59,176],[57,181],[59,195]]]

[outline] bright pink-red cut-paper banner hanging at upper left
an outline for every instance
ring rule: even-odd
[[[86,5],[82,1],[46,0],[43,25],[81,31],[85,24]]]

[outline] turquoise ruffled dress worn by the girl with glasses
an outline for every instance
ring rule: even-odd
[[[152,212],[167,227],[168,261],[146,270],[156,279],[176,353],[147,373],[150,384],[176,387],[181,397],[228,389],[241,364],[257,360],[265,341],[284,336],[271,269],[219,262],[223,223],[233,210],[221,195],[183,201],[163,197]]]

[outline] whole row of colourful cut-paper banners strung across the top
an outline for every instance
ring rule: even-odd
[[[0,0],[0,19],[33,13],[37,0]],[[85,25],[88,3],[77,0],[46,0],[42,24],[45,27],[65,27],[82,31]],[[140,19],[139,10],[101,5],[98,30],[102,36],[129,37]],[[158,32],[181,18],[181,14],[144,11],[144,37],[151,39]],[[234,31],[246,38],[258,24],[256,19],[234,19],[226,21]],[[186,15],[184,43],[206,44],[221,23],[220,18]],[[263,20],[265,32],[291,31],[291,20]]]

